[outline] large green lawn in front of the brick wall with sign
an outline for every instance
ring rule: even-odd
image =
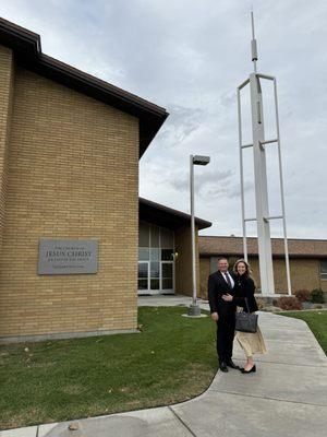
[[[202,393],[217,371],[215,323],[209,317],[181,317],[185,311],[140,308],[140,334],[0,346],[0,429],[165,405]]]

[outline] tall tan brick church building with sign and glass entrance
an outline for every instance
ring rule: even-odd
[[[138,199],[166,109],[1,19],[0,96],[0,342],[133,332],[137,294],[190,294],[190,215]]]

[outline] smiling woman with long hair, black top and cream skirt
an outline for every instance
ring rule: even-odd
[[[257,311],[258,307],[254,297],[255,284],[251,277],[249,263],[240,259],[235,262],[233,271],[235,274],[234,296],[228,294],[222,296],[222,298],[227,302],[233,300],[237,306],[242,307],[245,312]],[[237,331],[235,336],[245,352],[247,361],[245,367],[241,368],[242,374],[256,371],[253,355],[265,354],[267,352],[259,327],[257,327],[254,333]]]

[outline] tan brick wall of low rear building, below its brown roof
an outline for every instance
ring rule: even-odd
[[[252,270],[252,275],[256,287],[259,288],[259,267],[257,258],[249,258]],[[232,265],[232,262],[230,261]],[[210,271],[210,258],[201,258],[201,288],[205,290],[207,286],[207,277]],[[315,259],[291,259],[290,260],[291,284],[292,292],[296,290],[319,288],[324,286],[324,281],[320,281],[319,260]],[[287,277],[286,264],[283,259],[274,259],[274,277],[276,293],[287,294]],[[207,292],[206,292],[207,296]],[[207,297],[206,297],[207,298]]]

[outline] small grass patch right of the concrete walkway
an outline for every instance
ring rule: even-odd
[[[278,312],[281,316],[304,320],[314,333],[320,346],[327,354],[327,311],[288,311]]]

